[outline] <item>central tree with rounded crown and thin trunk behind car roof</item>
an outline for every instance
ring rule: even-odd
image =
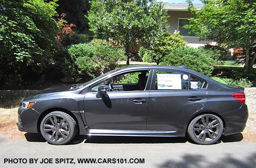
[[[125,49],[127,65],[134,46],[148,43],[167,26],[163,3],[156,0],[92,0],[88,19],[95,36]]]

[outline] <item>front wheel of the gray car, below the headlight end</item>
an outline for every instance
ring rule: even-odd
[[[77,133],[74,118],[62,111],[53,111],[41,121],[40,131],[48,143],[61,145],[69,143]]]

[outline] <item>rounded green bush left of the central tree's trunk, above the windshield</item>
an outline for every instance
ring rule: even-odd
[[[71,56],[71,60],[66,61],[68,71],[76,81],[102,74],[107,69],[115,68],[119,60],[125,59],[123,50],[99,39],[71,45],[68,53]]]

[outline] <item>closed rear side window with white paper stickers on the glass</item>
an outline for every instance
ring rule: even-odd
[[[155,90],[197,90],[205,87],[204,80],[187,73],[157,70],[155,74]]]

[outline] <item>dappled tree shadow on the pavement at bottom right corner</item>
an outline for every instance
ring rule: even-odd
[[[255,166],[256,152],[242,160],[227,155],[217,161],[209,160],[209,156],[200,154],[185,154],[180,160],[170,159],[158,165],[158,168],[255,168]]]

